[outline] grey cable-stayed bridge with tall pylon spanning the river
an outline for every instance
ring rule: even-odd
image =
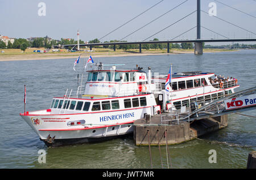
[[[156,3],[155,5],[153,5],[153,6],[151,6],[150,8],[148,8],[146,11],[150,10],[151,8],[155,7],[156,5],[158,5],[159,3],[163,2],[163,1],[164,1],[164,0],[162,0],[162,1],[158,2],[158,3]],[[203,54],[203,42],[249,42],[249,41],[256,41],[256,38],[229,38],[229,37],[226,37],[226,36],[224,36],[224,35],[221,35],[220,33],[215,32],[215,31],[213,31],[213,30],[211,30],[211,29],[209,29],[209,28],[203,27],[203,26],[201,25],[201,12],[203,12],[203,13],[205,13],[205,14],[208,14],[208,12],[205,12],[205,11],[201,10],[201,1],[200,1],[200,0],[196,0],[196,1],[197,1],[197,9],[196,9],[195,11],[192,11],[190,14],[184,16],[183,18],[177,20],[176,22],[174,22],[174,23],[168,25],[167,27],[161,29],[160,31],[154,33],[154,35],[152,35],[152,36],[150,36],[150,37],[153,37],[153,36],[157,35],[158,33],[164,31],[165,29],[170,28],[172,25],[174,25],[174,24],[180,22],[181,20],[187,18],[188,16],[192,15],[193,13],[196,13],[196,15],[197,15],[197,21],[196,21],[196,26],[195,26],[195,27],[192,27],[192,28],[188,29],[187,31],[181,33],[179,36],[176,36],[176,37],[172,38],[171,40],[146,41],[146,40],[148,40],[148,39],[150,38],[150,37],[147,37],[147,38],[145,38],[143,41],[130,41],[130,42],[127,42],[127,41],[126,41],[126,42],[123,42],[123,40],[124,40],[126,37],[132,35],[133,33],[137,32],[137,31],[139,31],[139,30],[141,30],[142,28],[146,27],[148,24],[150,24],[150,23],[152,23],[152,22],[155,22],[155,20],[158,20],[158,19],[161,18],[162,16],[166,15],[168,12],[170,12],[170,11],[174,10],[175,8],[177,8],[177,7],[181,6],[181,5],[183,5],[183,4],[184,4],[185,2],[187,2],[187,1],[189,1],[189,0],[185,0],[185,1],[181,2],[179,5],[175,6],[174,8],[171,8],[171,10],[169,10],[169,11],[165,12],[164,14],[158,16],[158,18],[155,18],[155,19],[151,20],[151,22],[149,22],[149,23],[143,25],[142,27],[138,28],[137,30],[135,30],[135,31],[133,31],[133,32],[131,32],[131,33],[129,33],[129,35],[127,35],[127,36],[121,38],[121,40],[119,40],[118,42],[104,42],[104,43],[103,43],[103,42],[100,42],[100,43],[91,43],[91,44],[55,45],[55,46],[53,46],[53,48],[65,48],[65,49],[68,49],[69,46],[72,46],[73,48],[77,47],[77,49],[79,50],[79,49],[80,49],[80,46],[89,46],[90,50],[92,50],[92,47],[93,47],[93,46],[108,46],[108,45],[112,45],[112,46],[113,46],[113,49],[114,49],[114,51],[115,51],[115,49],[116,49],[115,47],[116,47],[117,45],[138,44],[138,45],[139,45],[139,53],[141,53],[141,52],[142,52],[142,44],[167,44],[167,53],[170,53],[170,43],[192,42],[192,43],[195,43],[195,54]],[[246,13],[246,12],[241,11],[241,10],[238,10],[237,8],[234,8],[234,7],[232,7],[232,6],[226,5],[225,3],[222,3],[222,2],[217,1],[217,0],[213,0],[213,1],[215,1],[215,2],[217,2],[217,3],[221,3],[222,5],[224,5],[224,6],[226,6],[226,7],[232,8],[232,9],[234,9],[234,10],[236,10],[236,11],[239,11],[239,12],[241,12],[241,13],[243,13],[243,14],[246,14],[246,15],[251,16],[251,17],[253,17],[253,18],[256,19],[255,16],[250,15],[250,14],[248,14],[248,13]],[[105,36],[101,37],[99,40],[101,40],[102,38],[104,38],[104,37],[110,35],[110,34],[113,33],[114,31],[116,31],[117,29],[123,27],[123,25],[126,25],[127,23],[131,22],[132,20],[138,18],[140,15],[142,15],[142,14],[143,14],[144,12],[146,12],[146,11],[143,11],[141,14],[135,16],[133,19],[131,19],[131,20],[129,20],[128,22],[126,22],[126,23],[120,25],[118,28],[115,28],[113,31],[107,33]],[[234,23],[230,23],[228,20],[218,18],[217,16],[214,16],[214,15],[213,15],[213,17],[214,17],[214,18],[217,18],[218,20],[221,20],[222,22],[231,24],[231,25],[233,25],[233,26],[236,27],[236,28],[242,29],[243,31],[246,31],[246,32],[249,32],[249,33],[251,33],[251,34],[253,34],[253,35],[256,35],[256,33],[251,32],[251,31],[249,31],[249,30],[247,30],[247,29],[241,27],[240,25],[237,25],[237,24],[234,24]],[[180,37],[181,35],[184,35],[185,33],[191,31],[191,30],[194,29],[194,28],[196,28],[196,39],[174,40],[175,38]],[[220,38],[219,38],[219,39],[212,39],[212,38],[211,38],[211,39],[201,39],[201,28],[207,29],[208,31],[213,32],[213,33],[216,33],[218,36],[222,36],[222,37],[224,37],[224,38],[221,38],[221,39],[220,39]],[[79,39],[79,36],[78,36],[78,39]]]

